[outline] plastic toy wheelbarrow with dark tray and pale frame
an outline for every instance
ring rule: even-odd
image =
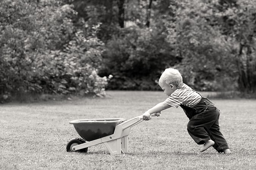
[[[159,113],[151,116],[159,116]],[[70,121],[82,138],[71,139],[67,143],[68,152],[87,152],[88,147],[104,143],[110,154],[128,153],[128,135],[132,126],[142,122],[142,115],[126,119],[81,119]]]

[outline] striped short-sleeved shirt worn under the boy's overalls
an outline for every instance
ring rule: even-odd
[[[187,84],[184,84],[182,87],[186,89],[176,89],[164,103],[175,108],[178,108],[181,104],[193,107],[201,100],[202,96],[192,90]]]

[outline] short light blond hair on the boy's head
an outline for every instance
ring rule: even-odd
[[[159,83],[173,84],[179,86],[182,83],[181,73],[176,69],[165,69],[159,79]]]

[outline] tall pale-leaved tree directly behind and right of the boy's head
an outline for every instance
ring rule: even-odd
[[[179,1],[170,5],[173,16],[166,17],[168,41],[176,46],[185,83],[198,90],[221,90],[235,82],[237,73],[231,44],[215,24],[211,3]],[[227,82],[228,80],[228,82]],[[234,83],[235,84],[235,83]]]

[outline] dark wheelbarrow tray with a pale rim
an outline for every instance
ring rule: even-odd
[[[92,141],[114,133],[116,125],[126,119],[80,119],[70,121],[77,133],[86,141]]]

